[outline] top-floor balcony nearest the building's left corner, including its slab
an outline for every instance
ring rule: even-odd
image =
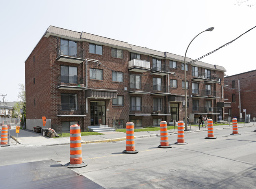
[[[85,50],[73,46],[60,44],[57,47],[57,61],[80,64],[85,61]]]

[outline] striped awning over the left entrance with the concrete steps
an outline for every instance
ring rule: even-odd
[[[117,90],[106,89],[85,89],[85,98],[103,98],[112,99],[117,98]]]

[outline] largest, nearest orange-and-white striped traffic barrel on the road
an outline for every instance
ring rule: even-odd
[[[65,166],[68,168],[85,167],[87,163],[83,162],[82,158],[82,145],[81,145],[81,132],[80,126],[74,124],[70,126],[70,159],[69,163]]]

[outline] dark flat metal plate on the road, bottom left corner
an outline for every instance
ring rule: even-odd
[[[1,188],[104,189],[54,160],[0,166]]]

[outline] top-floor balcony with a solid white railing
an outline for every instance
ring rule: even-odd
[[[145,60],[132,59],[128,62],[128,70],[144,73],[150,71],[150,63]]]

